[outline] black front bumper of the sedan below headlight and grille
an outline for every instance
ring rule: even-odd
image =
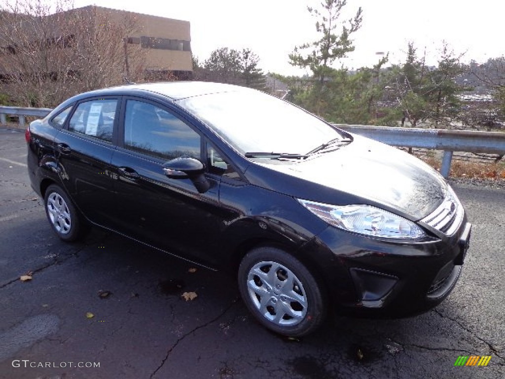
[[[440,304],[458,281],[472,225],[459,218],[451,235],[390,242],[328,227],[305,249],[321,262],[339,313],[404,317]],[[304,250],[305,250],[304,249]]]

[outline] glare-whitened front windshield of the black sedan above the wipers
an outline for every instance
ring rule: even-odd
[[[186,98],[178,104],[242,154],[305,154],[342,136],[317,117],[263,92],[243,89]]]

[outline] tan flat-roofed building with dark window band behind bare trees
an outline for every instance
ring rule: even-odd
[[[126,35],[115,35],[114,40],[121,46],[121,55],[124,55],[125,72],[128,72],[128,55],[127,52],[141,51],[142,63],[145,69],[145,79],[147,80],[163,80],[163,79],[190,79],[192,77],[192,59],[191,59],[191,34],[190,24],[188,21],[169,19],[158,16],[150,16],[139,13],[114,10],[109,8],[87,6],[82,8],[72,9],[66,12],[56,13],[44,18],[37,18],[28,15],[17,17],[23,25],[19,37],[16,39],[9,38],[9,41],[0,38],[0,70],[6,74],[9,71],[8,63],[12,60],[13,55],[17,54],[20,46],[36,46],[35,49],[51,49],[50,46],[56,48],[76,47],[81,44],[84,46],[87,41],[82,41],[88,38],[89,35],[99,35],[99,28],[110,27],[109,21],[117,22],[118,25],[125,22],[134,22],[134,28],[124,27],[121,30],[128,30]],[[73,19],[76,27],[72,30],[69,28],[68,20]],[[2,22],[8,25],[15,19],[14,15],[9,15],[7,12],[2,12]],[[79,20],[79,21],[77,21]],[[107,20],[104,22],[103,20]],[[83,22],[84,21],[84,22]],[[100,24],[108,24],[107,26]],[[89,24],[94,31],[89,31]],[[61,27],[65,25],[65,27]],[[2,25],[0,25],[2,27]],[[88,28],[83,32],[83,29]],[[40,31],[43,30],[44,33]],[[118,29],[120,30],[120,29]],[[48,32],[47,32],[48,31]],[[5,32],[2,35],[9,35]],[[40,35],[49,35],[49,38],[40,39]],[[108,35],[103,33],[103,35]],[[102,37],[103,38],[103,37]],[[22,39],[19,40],[18,39]],[[122,42],[119,42],[122,41]],[[124,49],[124,53],[123,53]],[[26,50],[26,49],[25,49]],[[55,52],[58,49],[55,49]],[[76,48],[75,50],[79,50]],[[116,49],[117,50],[117,49]],[[109,51],[112,49],[109,48]],[[77,53],[78,55],[78,53]],[[67,54],[68,56],[68,54]],[[66,57],[65,57],[66,58]],[[123,59],[121,59],[123,60]],[[116,62],[118,60],[116,59]],[[48,67],[49,68],[49,67]],[[51,68],[49,68],[51,69]],[[77,69],[79,70],[79,69]],[[7,72],[6,72],[7,71]],[[29,70],[25,70],[29,71]],[[120,70],[116,70],[118,75],[121,75]],[[3,75],[4,76],[4,75]]]

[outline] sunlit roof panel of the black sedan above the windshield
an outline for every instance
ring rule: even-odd
[[[134,90],[141,90],[141,91],[143,90],[159,93],[173,100],[181,100],[209,93],[237,92],[237,91],[250,90],[249,88],[240,87],[238,85],[201,82],[201,81],[174,81],[174,82],[159,82],[159,83],[126,84],[107,89],[110,89],[114,92],[116,91],[130,92]]]

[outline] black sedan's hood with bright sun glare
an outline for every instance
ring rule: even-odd
[[[287,175],[284,179],[302,179],[285,180],[272,189],[307,200],[378,205],[414,220],[427,216],[443,201],[447,184],[430,166],[396,148],[353,137],[346,146],[301,162],[259,160],[258,164]]]

